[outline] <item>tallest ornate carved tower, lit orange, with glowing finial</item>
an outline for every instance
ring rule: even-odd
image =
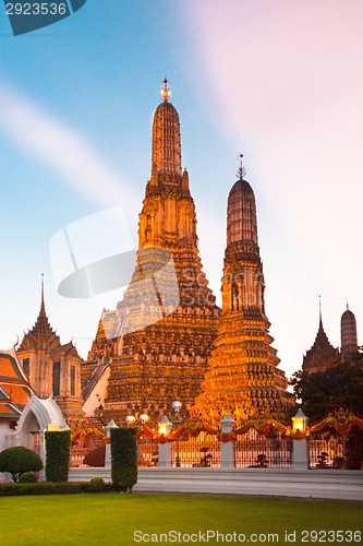
[[[167,80],[161,95],[153,123],[152,175],[140,214],[137,263],[109,333],[107,419],[146,413],[156,422],[174,400],[187,413],[217,335],[220,309],[202,270],[194,201],[182,170],[179,115],[169,102]],[[102,348],[105,342],[96,336],[89,357]]]

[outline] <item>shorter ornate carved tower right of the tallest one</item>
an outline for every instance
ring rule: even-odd
[[[213,425],[227,413],[241,424],[288,405],[288,382],[277,368],[265,314],[255,198],[243,174],[241,165],[228,198],[222,317],[203,392],[192,408],[192,415]]]

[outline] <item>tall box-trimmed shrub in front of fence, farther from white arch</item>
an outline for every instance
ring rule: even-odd
[[[132,492],[137,483],[136,432],[136,428],[111,429],[112,484],[124,492]]]

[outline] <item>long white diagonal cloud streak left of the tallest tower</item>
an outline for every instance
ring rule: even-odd
[[[26,154],[53,168],[99,206],[138,205],[130,187],[92,150],[86,139],[13,87],[0,82],[0,130]]]

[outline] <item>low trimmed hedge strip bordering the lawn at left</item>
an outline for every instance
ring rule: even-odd
[[[95,478],[93,478],[95,479]],[[96,478],[101,479],[101,478]],[[17,497],[22,495],[75,495],[81,492],[96,492],[90,482],[65,482],[51,483],[39,482],[38,484],[0,484],[0,497]],[[97,492],[108,492],[118,490],[112,484],[102,485],[102,490]]]

